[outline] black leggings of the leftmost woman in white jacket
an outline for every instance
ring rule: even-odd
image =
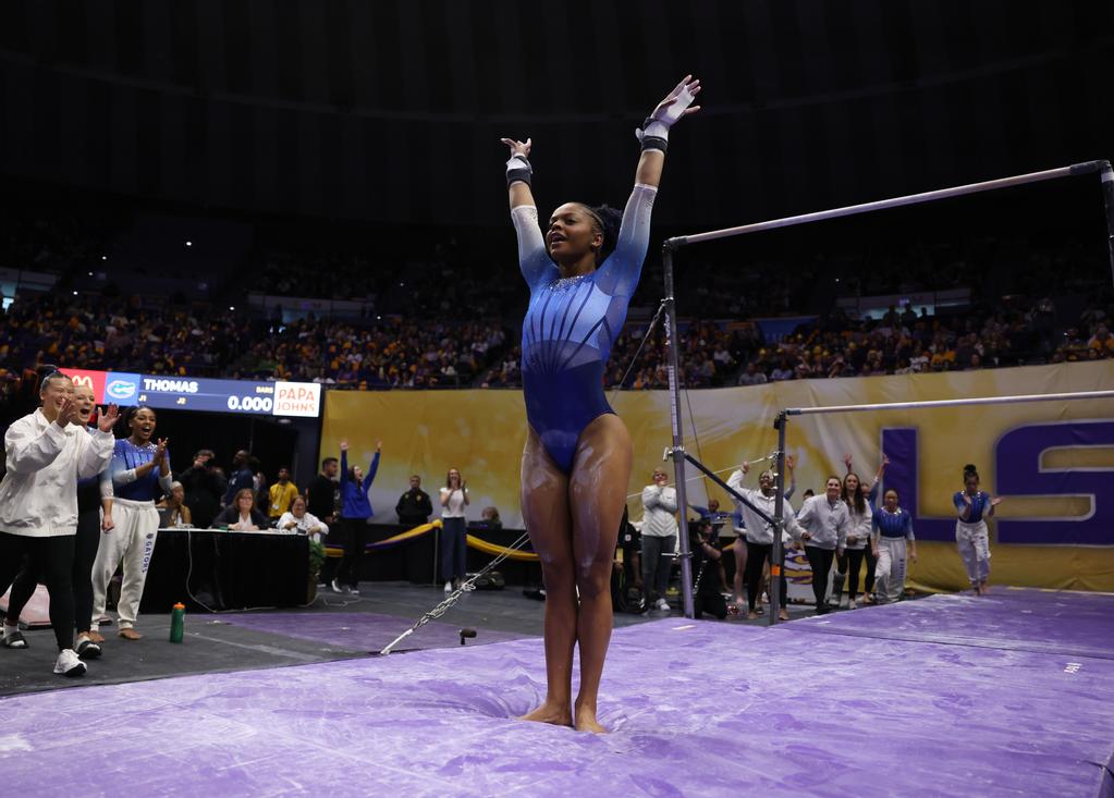
[[[50,595],[50,625],[55,630],[58,650],[74,648],[74,535],[30,538],[0,532],[0,589],[7,590],[23,565],[32,574],[42,574]],[[91,570],[91,569],[90,569]],[[31,592],[35,592],[32,587]],[[26,603],[26,599],[25,599]],[[22,608],[18,608],[22,609]],[[9,614],[14,624],[19,615]]]

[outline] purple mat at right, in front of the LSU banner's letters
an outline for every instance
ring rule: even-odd
[[[812,617],[793,628],[1114,659],[1114,595],[995,588]]]

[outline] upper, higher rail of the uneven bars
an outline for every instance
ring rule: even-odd
[[[1009,188],[1010,186],[1023,186],[1027,183],[1040,183],[1042,180],[1055,180],[1061,177],[1073,177],[1075,175],[1087,175],[1093,171],[1102,171],[1110,168],[1110,161],[1088,160],[1083,164],[1062,166],[1056,169],[1045,169],[1044,171],[1030,171],[1026,175],[1015,175],[1014,177],[1003,177],[997,180],[985,180],[983,183],[969,183],[966,186],[954,186],[952,188],[940,188],[935,191],[924,191],[921,194],[909,194],[905,197],[891,197],[890,199],[879,199],[873,203],[862,203],[861,205],[848,205],[842,208],[830,210],[818,210],[812,214],[800,216],[786,216],[781,219],[769,221],[758,221],[753,225],[741,227],[727,227],[722,230],[711,230],[709,233],[697,233],[691,236],[677,236],[665,242],[665,246],[672,249],[683,247],[686,244],[700,244],[711,242],[716,238],[730,238],[731,236],[742,236],[747,233],[761,233],[779,227],[792,227],[793,225],[804,225],[810,221],[823,221],[824,219],[838,219],[842,216],[854,216],[856,214],[869,214],[872,210],[885,210],[887,208],[898,208],[903,205],[918,205],[930,203],[934,199],[947,199],[949,197],[961,197],[965,194],[978,194],[980,191],[993,191],[997,188]]]

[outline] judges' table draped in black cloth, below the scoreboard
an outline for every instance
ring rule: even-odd
[[[305,535],[160,529],[140,611],[169,612],[177,601],[205,609],[198,600],[212,610],[297,607],[306,600],[309,569]]]

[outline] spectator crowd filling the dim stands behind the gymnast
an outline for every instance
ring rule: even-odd
[[[46,293],[21,289],[12,298],[6,287],[0,378],[9,383],[22,370],[58,364],[314,381],[338,388],[521,384],[518,341],[527,290],[508,266],[512,255],[498,263],[476,256],[491,248],[486,233],[404,236],[379,245],[372,257],[367,230],[260,225],[255,236],[262,240],[219,302],[188,303],[180,295],[129,290],[125,274],[101,259],[113,231],[127,227],[126,208],[71,204],[49,211],[40,203],[0,214],[0,266],[59,275]],[[687,264],[687,273],[700,278],[678,296],[682,384],[754,385],[1114,355],[1108,274],[1074,238],[1049,244],[973,234],[939,240],[893,236],[853,246],[833,242],[830,248],[823,256],[808,244],[721,252],[720,260]],[[739,258],[746,258],[745,267]],[[81,283],[92,268],[108,269],[105,290]],[[668,385],[664,331],[648,328],[661,285],[661,265],[651,257],[612,349],[608,390]],[[931,314],[900,306],[858,317],[837,302],[957,286],[967,289],[969,302]],[[356,318],[267,312],[253,308],[248,293],[358,301],[363,309]],[[786,316],[802,323],[788,333],[783,324],[766,324]]]

